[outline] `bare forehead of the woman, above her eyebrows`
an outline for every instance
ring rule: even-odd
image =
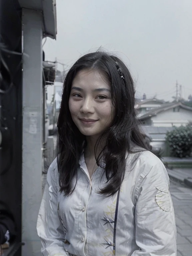
[[[81,88],[110,88],[110,83],[106,74],[100,70],[82,69],[73,79],[72,86],[79,86]]]

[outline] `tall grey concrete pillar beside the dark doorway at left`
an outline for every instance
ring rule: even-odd
[[[23,29],[23,164],[22,256],[40,256],[36,221],[42,198],[42,14],[22,10]],[[27,55],[26,55],[27,54]]]

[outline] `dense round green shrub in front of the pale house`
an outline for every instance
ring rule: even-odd
[[[175,127],[167,132],[166,141],[171,149],[172,156],[190,157],[192,150],[192,127],[190,125]]]

